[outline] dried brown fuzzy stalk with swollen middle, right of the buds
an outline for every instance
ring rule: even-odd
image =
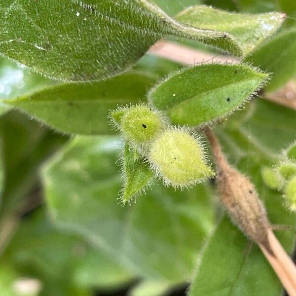
[[[229,216],[259,245],[289,295],[296,296],[296,266],[275,237],[255,186],[227,162],[211,129],[205,132],[217,164],[219,196]]]

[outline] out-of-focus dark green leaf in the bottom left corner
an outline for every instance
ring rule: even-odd
[[[102,250],[75,235],[58,231],[48,221],[44,209],[21,223],[3,256],[20,274],[41,280],[44,290],[67,285],[73,289],[110,290],[131,280],[131,274]]]

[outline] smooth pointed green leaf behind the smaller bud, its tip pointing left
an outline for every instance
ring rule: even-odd
[[[140,72],[84,84],[55,84],[3,102],[28,112],[49,126],[72,134],[110,134],[110,109],[145,101],[155,79]]]

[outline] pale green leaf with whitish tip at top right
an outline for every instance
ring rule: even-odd
[[[177,20],[196,28],[226,32],[233,37],[242,52],[247,54],[264,38],[276,32],[284,15],[277,12],[242,14],[209,6],[194,6],[181,12]]]

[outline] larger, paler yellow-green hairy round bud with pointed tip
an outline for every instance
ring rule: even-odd
[[[187,187],[215,173],[205,162],[202,145],[185,129],[169,129],[152,142],[148,160],[165,185]]]

